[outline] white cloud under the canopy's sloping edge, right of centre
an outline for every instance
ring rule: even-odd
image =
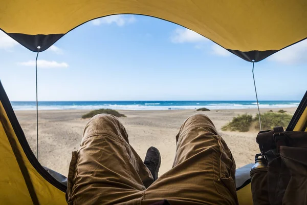
[[[186,28],[177,28],[174,30],[173,34],[170,36],[172,43],[200,43],[206,42],[208,38]]]

